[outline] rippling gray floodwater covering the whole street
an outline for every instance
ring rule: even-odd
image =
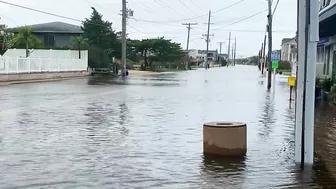
[[[335,188],[294,164],[286,78],[256,67],[0,87],[0,188]],[[248,125],[242,159],[204,156],[202,124]]]

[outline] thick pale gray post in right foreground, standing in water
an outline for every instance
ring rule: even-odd
[[[298,69],[295,112],[295,162],[314,162],[314,106],[319,16],[316,0],[298,0]]]

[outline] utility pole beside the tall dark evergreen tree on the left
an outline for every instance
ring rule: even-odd
[[[122,0],[122,39],[121,39],[121,64],[122,64],[122,76],[126,76],[126,17],[127,17],[127,7],[126,0]]]

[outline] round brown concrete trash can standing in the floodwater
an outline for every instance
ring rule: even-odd
[[[205,123],[203,125],[203,152],[220,156],[245,156],[247,152],[246,124]]]

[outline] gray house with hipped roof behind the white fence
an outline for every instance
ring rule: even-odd
[[[31,27],[33,34],[38,37],[47,48],[63,48],[69,44],[71,37],[83,34],[80,26],[64,23],[49,22],[43,24],[35,24]],[[16,32],[20,27],[11,28],[12,32]]]

